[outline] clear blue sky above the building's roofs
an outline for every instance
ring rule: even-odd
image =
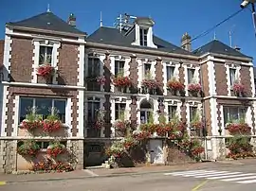
[[[100,26],[102,11],[103,26],[113,26],[120,13],[136,16],[151,16],[155,20],[155,35],[176,45],[180,44],[184,32],[192,37],[214,26],[230,14],[240,9],[240,0],[129,0],[126,1],[82,1],[82,0],[2,0],[0,3],[0,39],[4,38],[5,24],[26,19],[50,10],[64,20],[73,12],[77,16],[77,26],[91,34]],[[256,58],[256,38],[251,12],[245,9],[237,16],[215,29],[216,39],[229,44],[229,30],[232,43],[242,48],[242,52]],[[195,49],[213,39],[212,31],[206,37],[192,43]]]

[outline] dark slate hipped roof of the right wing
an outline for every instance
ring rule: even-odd
[[[215,53],[215,54],[252,59],[251,57],[248,57],[247,55],[235,50],[234,48],[231,48],[229,45],[217,40],[213,40],[210,43],[207,43],[197,48],[196,50],[193,51],[193,53],[197,56],[202,56],[206,53]]]

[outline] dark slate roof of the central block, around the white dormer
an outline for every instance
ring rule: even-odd
[[[151,47],[132,45],[131,43],[135,41],[134,29],[132,29],[131,32],[126,34],[126,32],[124,31],[119,32],[118,28],[101,26],[94,33],[88,36],[86,41],[95,42],[95,43],[108,43],[108,44],[121,45],[126,47],[133,47],[133,48],[155,49]],[[153,42],[157,46],[157,50],[160,50],[160,51],[170,52],[175,54],[183,54],[183,55],[193,55],[191,52],[186,51],[174,45],[173,43],[164,41],[156,37],[155,35],[153,36]]]

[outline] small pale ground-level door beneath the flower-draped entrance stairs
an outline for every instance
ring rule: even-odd
[[[150,140],[150,158],[152,164],[164,164],[162,140]]]

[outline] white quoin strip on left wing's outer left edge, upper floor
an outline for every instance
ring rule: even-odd
[[[12,40],[10,38],[9,32],[12,32],[11,29],[6,27],[6,36],[5,36],[5,47],[4,47],[4,69],[3,69],[3,75],[4,75],[4,80],[9,81],[9,74],[10,74],[10,59],[11,59],[11,43]]]

